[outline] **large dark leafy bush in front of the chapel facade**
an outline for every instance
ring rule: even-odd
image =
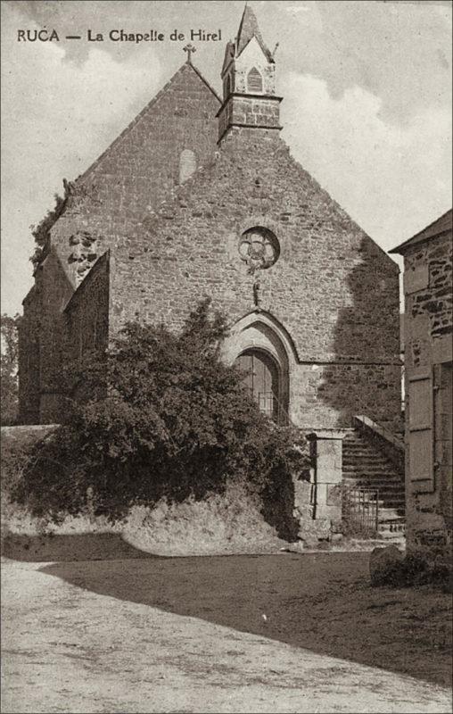
[[[200,500],[237,481],[259,494],[268,522],[291,529],[288,493],[292,472],[306,468],[305,444],[266,418],[239,369],[220,360],[226,335],[207,300],[179,334],[129,323],[111,350],[70,372],[81,399],[37,447],[14,499],[58,519],[89,498],[118,519],[132,505]]]

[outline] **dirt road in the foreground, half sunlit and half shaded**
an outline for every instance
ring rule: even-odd
[[[451,711],[449,596],[373,590],[366,569],[366,553],[5,560],[2,710]]]

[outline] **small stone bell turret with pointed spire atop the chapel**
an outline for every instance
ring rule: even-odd
[[[276,129],[281,96],[276,96],[276,63],[259,31],[250,5],[235,42],[228,42],[221,73],[223,104],[218,111],[218,140],[232,127]]]

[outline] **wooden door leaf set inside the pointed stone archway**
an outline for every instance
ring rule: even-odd
[[[274,358],[264,350],[245,350],[236,358],[243,371],[243,386],[258,403],[260,411],[279,421],[279,368]]]

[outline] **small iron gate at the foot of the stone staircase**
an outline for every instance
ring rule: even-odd
[[[348,535],[375,537],[379,525],[379,489],[344,488],[342,520]]]

